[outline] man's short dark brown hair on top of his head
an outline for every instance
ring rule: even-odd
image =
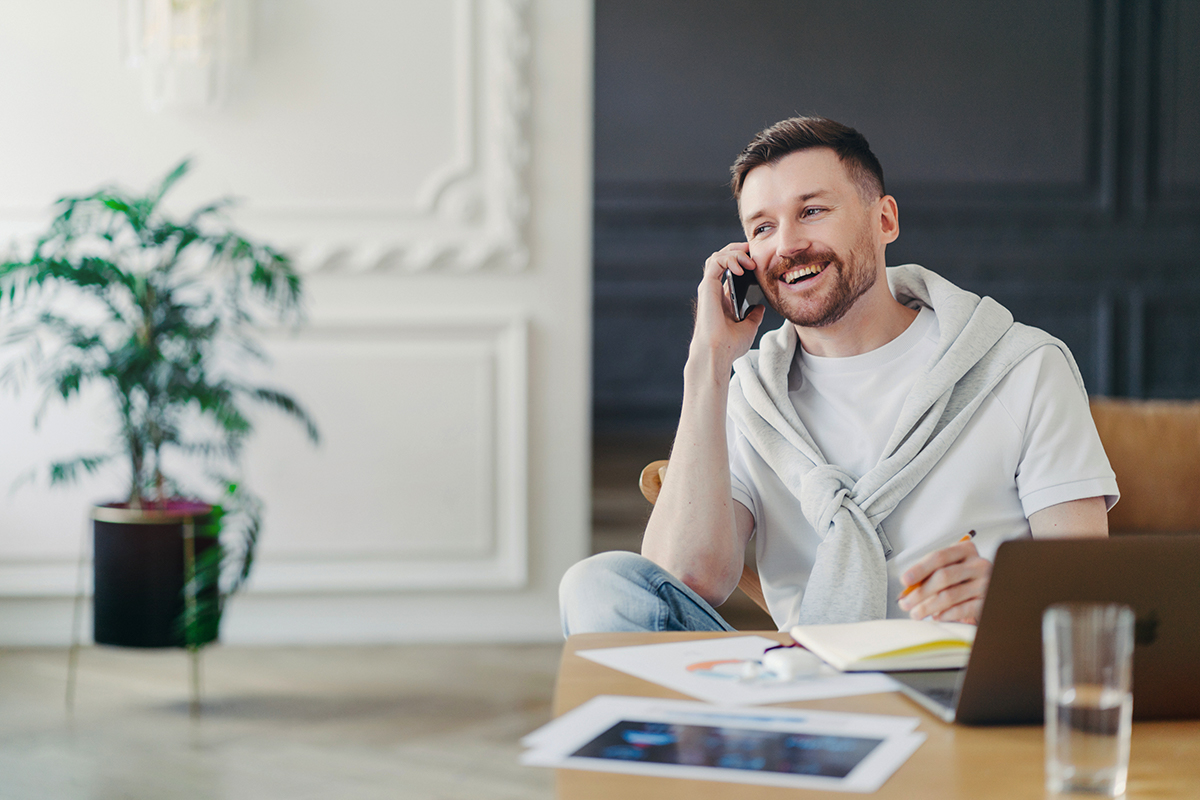
[[[863,197],[883,197],[883,167],[871,152],[866,138],[854,128],[823,116],[793,116],[760,131],[730,167],[733,197],[742,199],[742,185],[755,167],[774,164],[800,150],[829,148],[850,173]]]

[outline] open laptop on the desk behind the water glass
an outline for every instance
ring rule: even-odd
[[[1004,542],[967,666],[889,674],[947,722],[1040,723],[1042,612],[1068,601],[1133,608],[1135,720],[1200,717],[1200,535]]]

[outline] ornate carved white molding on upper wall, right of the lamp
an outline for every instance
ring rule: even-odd
[[[520,271],[529,265],[529,0],[456,0],[454,156],[412,207],[247,212],[278,225],[305,272]],[[300,231],[305,231],[298,236]]]

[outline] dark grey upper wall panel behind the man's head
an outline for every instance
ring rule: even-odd
[[[1118,31],[1104,2],[608,0],[596,19],[602,203],[680,186],[720,203],[756,131],[818,113],[866,134],[911,213],[1109,210]]]

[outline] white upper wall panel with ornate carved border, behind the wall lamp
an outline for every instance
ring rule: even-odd
[[[53,2],[46,14],[86,14],[78,24],[92,30],[114,22]],[[5,42],[0,68],[18,79],[0,86],[0,106],[31,103],[35,79],[41,97],[37,125],[6,134],[28,156],[0,167],[0,237],[35,229],[62,193],[149,184],[200,154],[174,200],[246,198],[238,219],[287,242],[306,271],[528,265],[529,0],[253,8],[253,58],[206,114],[146,118],[115,28],[79,43],[80,74],[54,48]],[[80,126],[98,128],[85,146],[71,139]],[[46,146],[55,158],[43,161]]]

